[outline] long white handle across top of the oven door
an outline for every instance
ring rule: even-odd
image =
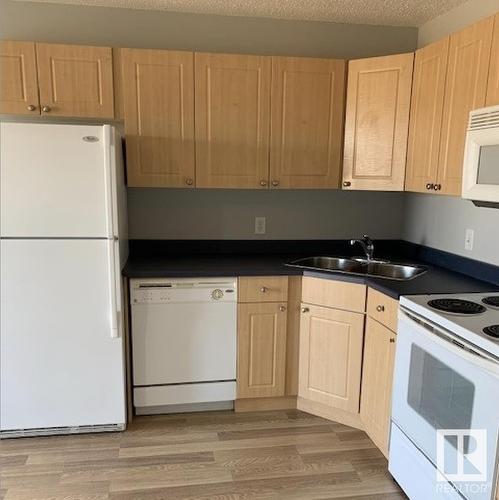
[[[487,357],[485,354],[481,354],[473,346],[468,345],[466,341],[453,337],[447,330],[403,309],[399,309],[399,319],[402,322],[409,323],[411,328],[417,330],[429,342],[440,345],[452,354],[464,358],[499,378],[499,362]]]

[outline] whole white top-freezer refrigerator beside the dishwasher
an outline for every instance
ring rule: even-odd
[[[0,124],[1,437],[122,430],[121,138]]]

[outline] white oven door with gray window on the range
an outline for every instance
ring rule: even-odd
[[[499,430],[499,363],[486,358],[465,341],[403,309],[399,312],[393,389],[392,420],[407,437],[439,467],[439,472],[462,491],[465,498],[490,499],[497,471]],[[485,481],[473,479],[458,484],[458,438],[441,439],[437,460],[437,429],[482,430],[486,433]],[[478,450],[478,443],[465,436],[463,452]],[[483,454],[481,455],[483,457]],[[442,467],[442,463],[444,466]],[[475,483],[475,488],[465,486]],[[478,491],[477,491],[478,490]]]

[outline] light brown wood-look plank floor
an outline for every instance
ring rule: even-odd
[[[138,417],[0,452],[6,500],[406,498],[364,432],[297,410]]]

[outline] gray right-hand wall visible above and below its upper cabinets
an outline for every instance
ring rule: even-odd
[[[470,0],[421,26],[419,45],[438,40],[499,11],[499,0]],[[466,257],[499,265],[499,209],[475,207],[450,196],[406,194],[403,237]],[[464,249],[466,229],[474,248]]]

